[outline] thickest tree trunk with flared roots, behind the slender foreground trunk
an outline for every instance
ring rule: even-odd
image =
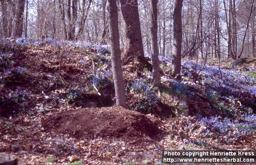
[[[120,0],[120,4],[128,40],[128,50],[125,57],[122,57],[124,64],[137,60],[143,65],[141,69],[146,67],[152,71],[152,66],[144,56],[138,2],[137,0]]]

